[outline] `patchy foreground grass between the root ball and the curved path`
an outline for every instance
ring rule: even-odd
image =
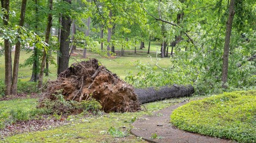
[[[147,103],[142,106],[143,111],[136,113],[98,112],[91,116],[71,115],[66,119],[70,122],[66,126],[17,134],[0,139],[0,142],[145,142],[130,134],[132,122],[145,114],[155,116],[154,111],[180,101],[184,101],[184,98]]]

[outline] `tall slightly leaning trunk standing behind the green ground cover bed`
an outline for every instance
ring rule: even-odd
[[[232,29],[234,15],[235,15],[235,0],[230,0],[228,21],[226,23],[226,34],[225,34],[225,44],[224,44],[223,64],[222,64],[221,80],[222,80],[223,88],[227,88],[226,83],[228,79],[229,43],[230,43],[230,36],[231,36],[231,29]]]

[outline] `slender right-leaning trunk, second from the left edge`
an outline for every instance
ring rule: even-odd
[[[19,23],[20,27],[23,27],[24,25],[26,4],[27,4],[27,0],[22,0],[20,23]],[[21,34],[20,31],[19,31],[19,34]],[[12,95],[17,95],[17,81],[18,81],[18,72],[19,72],[20,51],[21,51],[21,42],[18,40],[15,46],[15,55],[14,55],[13,82],[11,84]]]

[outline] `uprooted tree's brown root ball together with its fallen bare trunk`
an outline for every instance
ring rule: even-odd
[[[38,107],[44,107],[44,99],[57,100],[60,90],[67,101],[94,98],[106,113],[136,112],[141,110],[141,103],[191,96],[194,92],[192,86],[134,89],[96,59],[74,63],[60,73],[57,80],[47,86]]]

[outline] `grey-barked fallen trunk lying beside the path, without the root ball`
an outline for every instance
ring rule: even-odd
[[[162,86],[159,88],[142,88],[135,89],[135,94],[138,96],[140,103],[154,102],[170,98],[179,98],[184,96],[191,96],[194,93],[194,88],[188,86]]]

